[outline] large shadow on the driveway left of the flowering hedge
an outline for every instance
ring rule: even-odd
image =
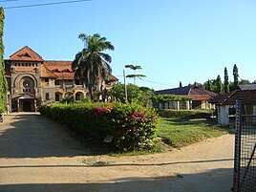
[[[63,125],[39,114],[11,115],[1,124],[0,158],[99,155],[106,148],[82,142]]]

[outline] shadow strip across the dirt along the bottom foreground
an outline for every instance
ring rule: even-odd
[[[230,192],[232,169],[214,169],[199,174],[173,174],[166,177],[120,178],[115,181],[85,183],[0,184],[1,192]],[[86,183],[88,182],[88,183]]]

